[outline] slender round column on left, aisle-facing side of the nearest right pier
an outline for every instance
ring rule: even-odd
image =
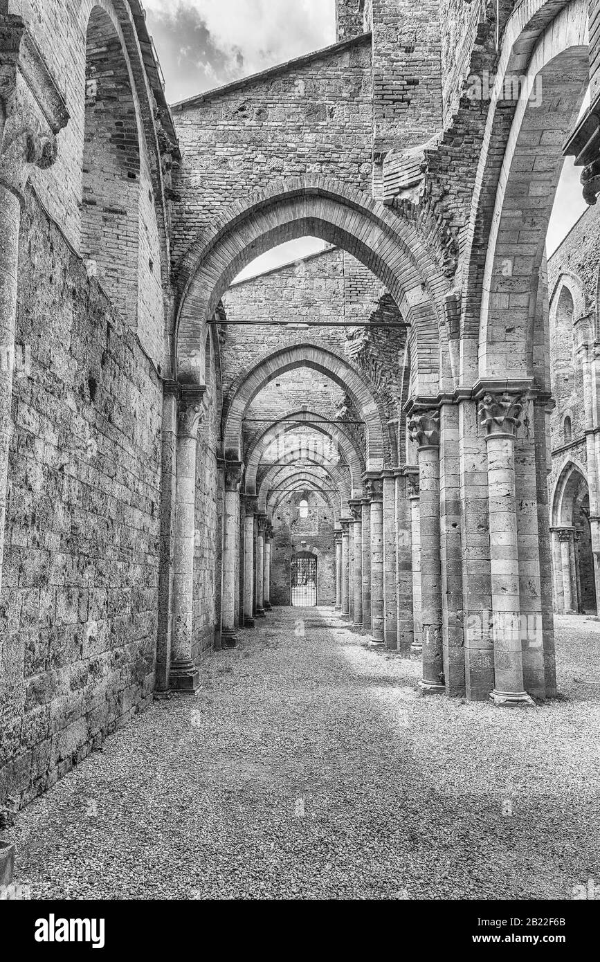
[[[439,415],[416,412],[409,424],[411,441],[418,444],[419,534],[421,542],[421,689],[432,695],[445,691],[441,609],[439,538]]]

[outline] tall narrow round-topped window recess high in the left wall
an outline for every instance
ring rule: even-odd
[[[88,270],[137,327],[139,139],[121,42],[107,13],[87,24],[81,251]]]

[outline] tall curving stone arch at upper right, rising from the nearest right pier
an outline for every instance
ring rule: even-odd
[[[505,83],[508,88],[512,78],[523,76],[518,99],[504,96]],[[518,4],[502,38],[464,233],[463,384],[478,377],[547,380],[537,274],[562,142],[577,117],[587,76],[584,0],[572,0],[558,13],[552,0]],[[540,205],[540,198],[546,203]]]

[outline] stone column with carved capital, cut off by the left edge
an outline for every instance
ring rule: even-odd
[[[69,115],[54,78],[16,14],[0,14],[0,588],[6,527],[20,210],[34,166],[57,157],[55,135]]]

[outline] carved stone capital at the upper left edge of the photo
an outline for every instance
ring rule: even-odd
[[[19,16],[0,16],[0,184],[22,200],[32,166],[57,157],[56,134],[68,121],[35,40]]]

